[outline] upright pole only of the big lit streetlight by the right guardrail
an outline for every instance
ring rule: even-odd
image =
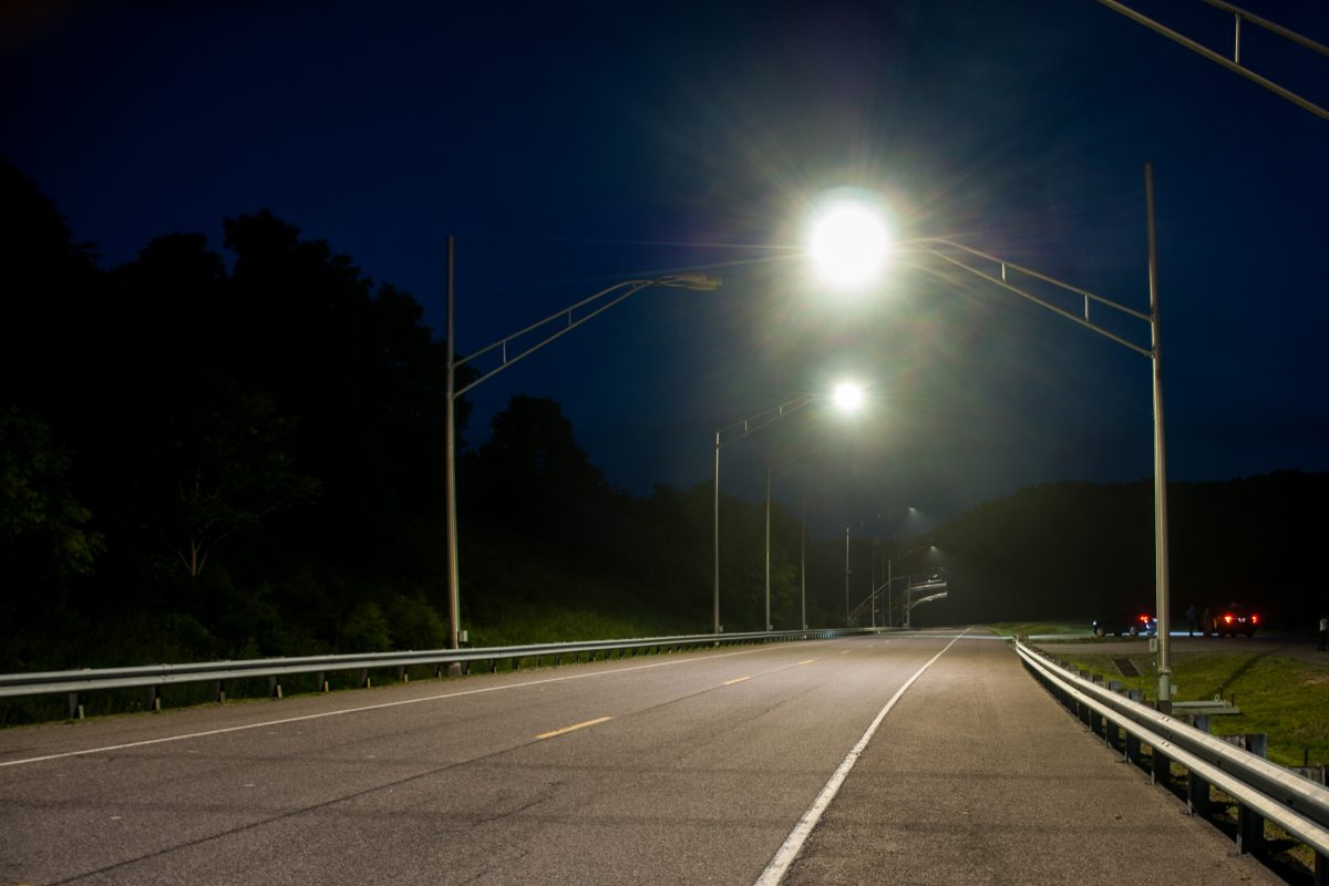
[[[1154,226],[1154,165],[1144,165],[1144,209],[1150,250],[1150,364],[1154,369],[1154,583],[1158,591],[1159,701],[1172,700],[1172,642],[1167,545],[1167,456],[1163,437],[1163,369],[1159,337],[1158,240]]]

